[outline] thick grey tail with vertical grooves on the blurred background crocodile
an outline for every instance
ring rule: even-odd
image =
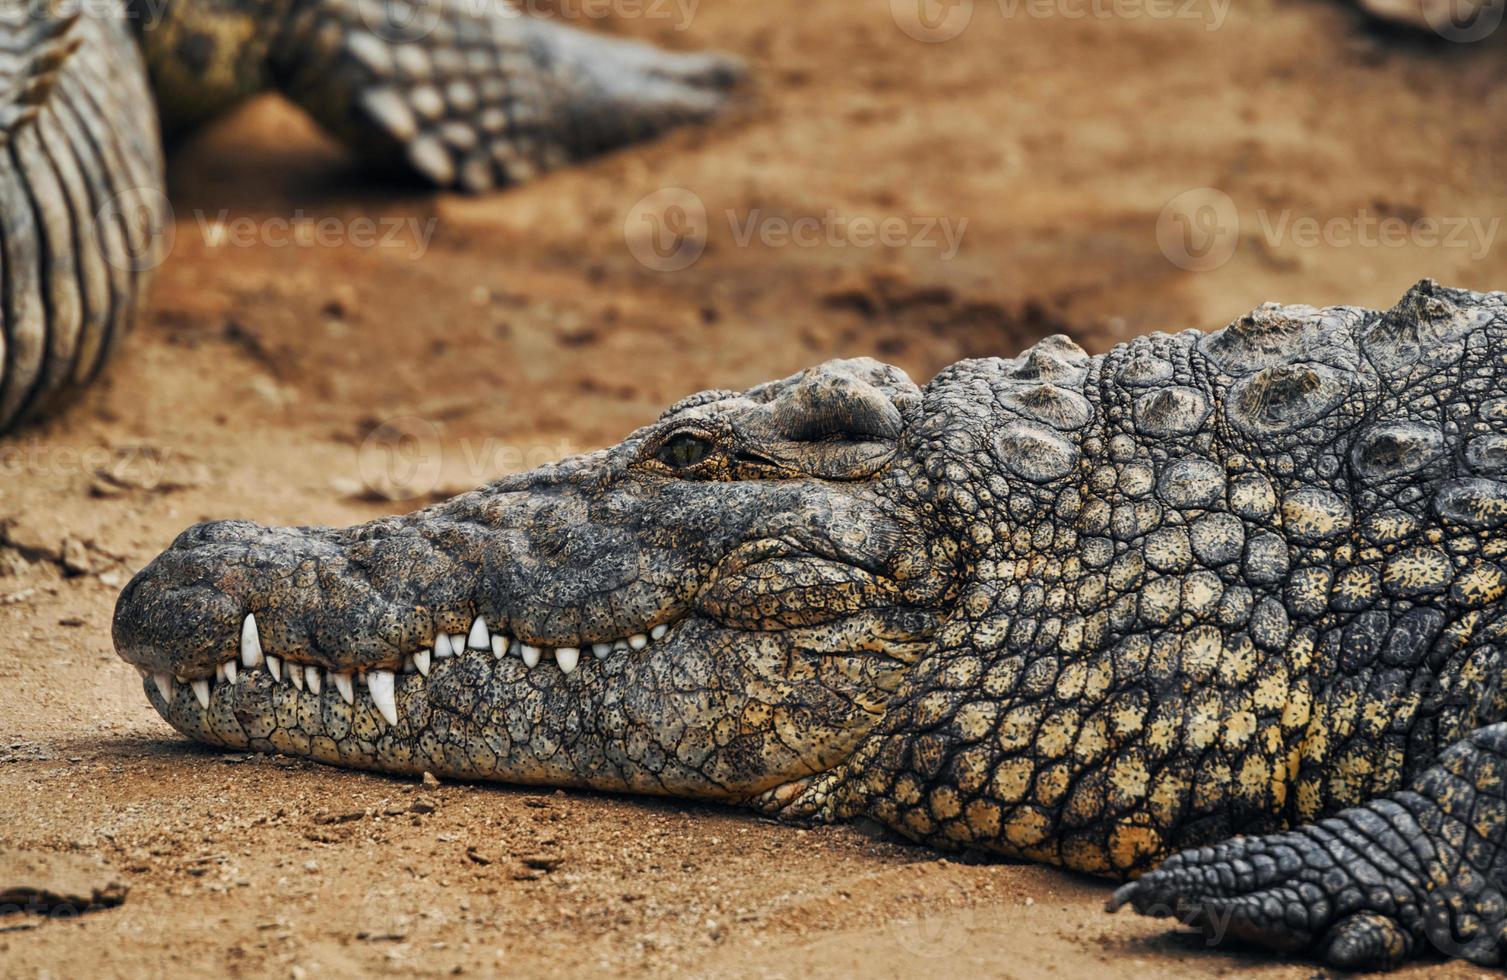
[[[112,20],[0,14],[0,433],[98,374],[166,220],[140,56]]]

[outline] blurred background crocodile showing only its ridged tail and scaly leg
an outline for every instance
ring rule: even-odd
[[[512,0],[0,0],[0,433],[93,380],[166,258],[163,136],[276,90],[481,193],[708,119],[744,69]]]

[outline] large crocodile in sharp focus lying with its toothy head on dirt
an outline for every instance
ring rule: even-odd
[[[1335,966],[1507,950],[1507,294],[870,359],[347,529],[116,651],[216,746],[868,820]],[[1433,951],[1433,953],[1432,953]]]

